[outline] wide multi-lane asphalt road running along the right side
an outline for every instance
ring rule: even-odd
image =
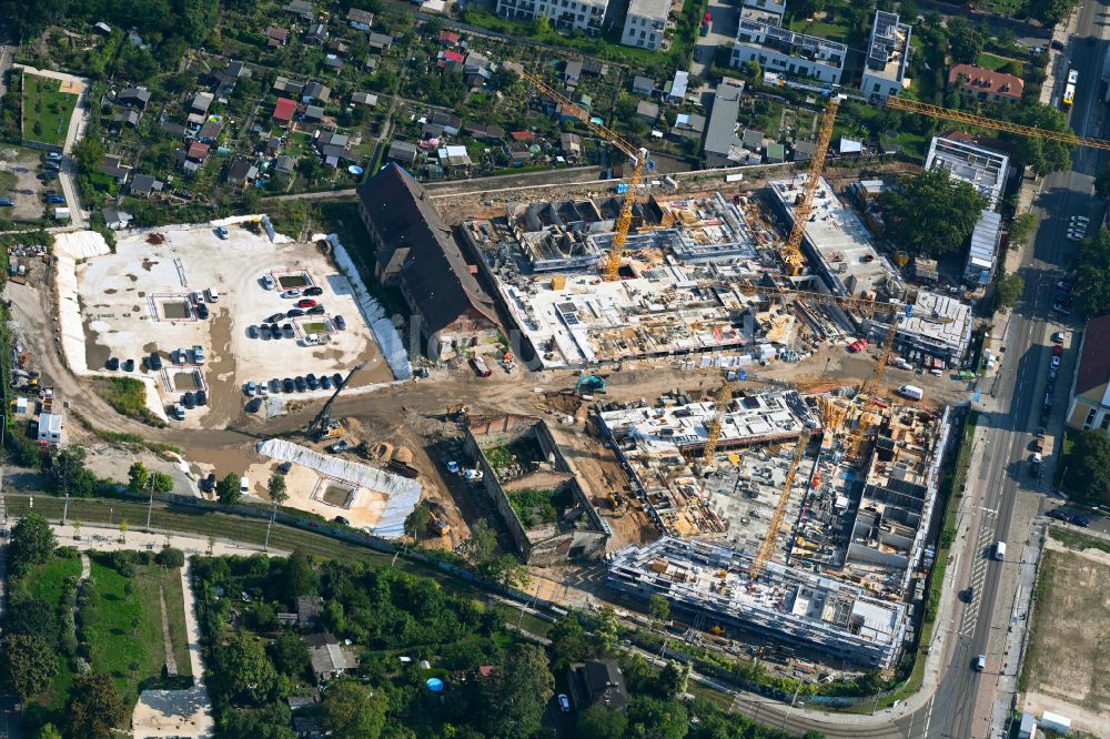
[[[1082,136],[1101,138],[1104,131],[1099,74],[1107,44],[1102,39],[1107,7],[1100,2],[1083,6],[1076,34],[1068,45],[1072,68],[1080,73],[1076,108],[1071,114],[1072,129]],[[1089,43],[1088,39],[1097,39]],[[1092,223],[1101,220],[1101,204],[1093,196],[1093,174],[1104,164],[1106,154],[1081,149],[1074,153],[1072,171],[1057,172],[1045,179],[1035,201],[1035,212],[1042,219],[1033,242],[1031,259],[1022,264],[1026,279],[1022,303],[1012,313],[1006,337],[1007,368],[1000,373],[993,392],[999,409],[980,416],[988,424],[986,442],[976,454],[982,455],[983,465],[978,479],[969,480],[969,494],[981,496],[973,515],[972,535],[976,546],[968,549],[968,561],[957,568],[956,586],[961,590],[975,585],[971,603],[965,606],[951,660],[934,698],[931,722],[927,737],[988,737],[990,710],[993,702],[999,658],[990,649],[992,630],[1009,618],[1015,591],[1015,577],[1007,575],[1006,566],[988,558],[993,541],[1011,544],[1008,557],[1020,553],[1020,545],[1028,539],[1029,522],[1015,518],[1015,506],[1022,495],[1041,495],[1048,490],[1052,464],[1048,460],[1045,478],[1033,479],[1029,474],[1031,432],[1040,419],[1041,404],[1051,356],[1050,335],[1059,330],[1079,328],[1050,316],[1053,304],[1053,283],[1067,269],[1072,245],[1064,237],[1067,223],[1072,215],[1088,215]],[[1072,350],[1078,342],[1072,342]],[[1074,362],[1066,356],[1063,368]],[[1067,409],[1069,372],[1060,373],[1054,405],[1050,415],[1050,432],[1062,432]],[[1041,495],[1041,508],[1050,507]],[[968,571],[970,570],[970,573]],[[1011,570],[1012,571],[1012,570]],[[995,618],[991,618],[991,617]],[[977,672],[970,668],[977,655],[988,655],[987,669]],[[985,700],[988,698],[989,700]],[[977,710],[978,708],[978,710]]]

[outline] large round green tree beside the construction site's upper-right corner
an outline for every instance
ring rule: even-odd
[[[959,250],[987,206],[973,186],[942,169],[904,179],[885,202],[890,237],[914,255],[931,259]]]

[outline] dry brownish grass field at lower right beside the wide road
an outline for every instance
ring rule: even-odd
[[[1045,551],[1019,689],[1110,718],[1108,590],[1110,564],[1103,555]]]

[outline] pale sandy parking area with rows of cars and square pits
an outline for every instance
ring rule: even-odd
[[[326,251],[271,243],[250,222],[122,235],[113,254],[78,264],[77,284],[85,366],[145,374],[186,426],[225,423],[262,387],[286,394],[285,378],[290,397],[325,395],[360,363],[352,386],[393,378]],[[176,418],[198,391],[203,403]]]

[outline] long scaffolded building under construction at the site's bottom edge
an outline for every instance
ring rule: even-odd
[[[609,587],[636,598],[660,595],[695,622],[874,668],[891,668],[906,639],[908,608],[842,579],[768,563],[749,577],[753,557],[709,541],[664,537],[616,553]]]

